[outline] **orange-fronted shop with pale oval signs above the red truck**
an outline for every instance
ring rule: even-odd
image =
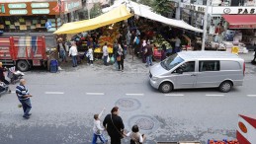
[[[5,33],[53,32],[60,26],[57,2],[0,3],[0,6],[0,30]]]

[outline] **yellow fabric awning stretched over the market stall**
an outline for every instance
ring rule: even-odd
[[[94,19],[64,24],[53,34],[77,34],[81,32],[95,30],[100,27],[127,20],[131,16],[132,15],[128,12],[126,6],[121,5],[120,7],[115,8],[112,11]]]

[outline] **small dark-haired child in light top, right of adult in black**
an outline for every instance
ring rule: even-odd
[[[142,144],[145,141],[145,135],[139,133],[137,125],[133,125],[131,132],[128,132],[126,136],[130,137],[129,144]]]

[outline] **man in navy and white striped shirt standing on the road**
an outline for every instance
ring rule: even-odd
[[[23,117],[26,119],[29,119],[31,115],[30,110],[32,108],[30,97],[32,97],[32,95],[30,95],[30,92],[25,85],[26,85],[26,80],[21,79],[20,85],[16,87],[16,95],[22,104],[22,108],[24,111]]]

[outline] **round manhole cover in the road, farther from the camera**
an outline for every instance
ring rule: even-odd
[[[140,103],[132,98],[123,98],[118,100],[116,103],[116,106],[121,108],[122,110],[135,110],[140,108]]]

